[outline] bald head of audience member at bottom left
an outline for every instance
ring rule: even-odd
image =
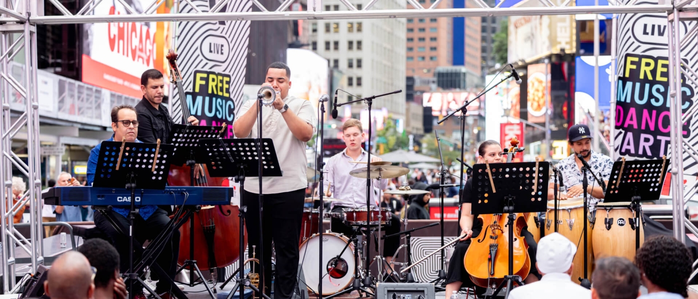
[[[80,252],[69,251],[56,259],[44,282],[46,295],[52,299],[92,298],[94,284],[89,261]]]

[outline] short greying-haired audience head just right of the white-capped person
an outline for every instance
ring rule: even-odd
[[[596,261],[591,275],[592,299],[634,299],[640,296],[640,273],[631,261],[611,256]]]

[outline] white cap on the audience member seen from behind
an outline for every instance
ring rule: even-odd
[[[572,266],[577,246],[560,233],[551,233],[538,242],[535,254],[538,270],[543,274],[565,273]]]

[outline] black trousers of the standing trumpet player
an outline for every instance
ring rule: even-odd
[[[272,240],[276,252],[276,277],[274,298],[290,299],[296,288],[298,274],[298,240],[300,238],[305,188],[295,191],[264,194],[262,215],[262,237],[264,242],[263,263],[265,269],[265,293],[270,294],[272,285]],[[247,207],[245,227],[248,245],[255,248],[260,258],[260,206],[258,194],[244,191],[242,204]],[[255,268],[258,270],[259,268]]]

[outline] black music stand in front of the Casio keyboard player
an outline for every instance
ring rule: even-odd
[[[158,140],[159,141],[159,140]],[[129,298],[136,293],[133,281],[138,280],[151,295],[160,298],[138,277],[133,267],[133,229],[135,227],[135,189],[164,190],[170,174],[174,146],[126,141],[102,141],[95,169],[94,187],[126,187],[131,190],[131,210],[128,213],[128,279]],[[143,204],[143,201],[140,202]]]

